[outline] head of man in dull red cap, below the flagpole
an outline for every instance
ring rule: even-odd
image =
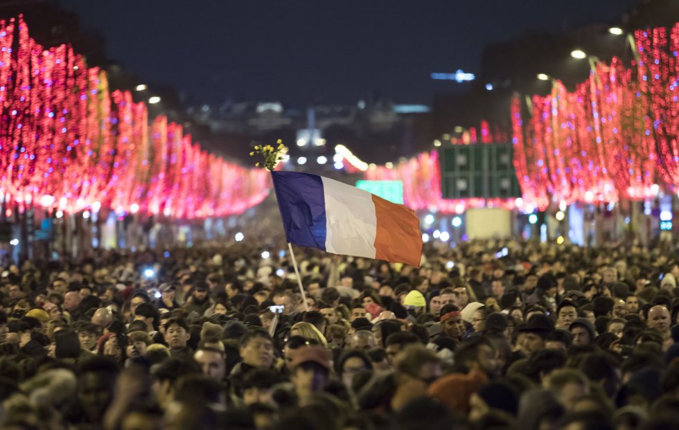
[[[330,355],[319,345],[301,346],[295,351],[290,368],[290,380],[299,398],[299,406],[304,406],[315,393],[326,388],[330,378]]]

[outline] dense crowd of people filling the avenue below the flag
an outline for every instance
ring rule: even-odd
[[[0,430],[679,429],[671,247],[262,251],[4,268]]]

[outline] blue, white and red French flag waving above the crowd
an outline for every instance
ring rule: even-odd
[[[412,210],[316,174],[271,174],[288,243],[419,267],[422,235]]]

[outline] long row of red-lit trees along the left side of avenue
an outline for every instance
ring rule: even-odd
[[[0,106],[0,193],[20,211],[202,218],[241,213],[270,189],[266,172],[208,154],[166,117],[149,127],[145,103],[109,93],[71,46],[44,49],[21,17],[0,21]]]

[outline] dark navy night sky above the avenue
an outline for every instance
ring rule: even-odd
[[[60,0],[108,56],[193,102],[429,103],[478,72],[484,44],[564,24],[615,24],[639,0]]]

